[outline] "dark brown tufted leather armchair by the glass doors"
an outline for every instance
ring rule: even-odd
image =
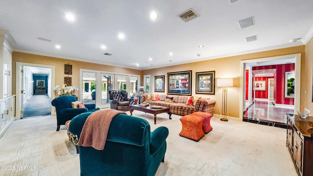
[[[134,103],[133,98],[127,98],[125,90],[110,90],[110,107],[112,110],[127,111],[131,110],[131,105]]]

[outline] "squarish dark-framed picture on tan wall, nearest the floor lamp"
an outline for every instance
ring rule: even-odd
[[[215,94],[215,71],[196,73],[196,93]]]

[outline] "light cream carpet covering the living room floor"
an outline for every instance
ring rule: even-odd
[[[179,115],[169,120],[167,113],[158,114],[156,125],[152,114],[133,115],[146,119],[152,131],[169,129],[165,162],[156,176],[297,176],[286,129],[212,118],[213,131],[195,142],[179,136]],[[0,139],[0,176],[79,176],[79,155],[65,126],[55,129],[55,116],[15,121]]]

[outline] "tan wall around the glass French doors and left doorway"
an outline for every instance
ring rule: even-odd
[[[72,85],[79,85],[79,70],[90,69],[97,71],[106,71],[114,73],[126,73],[140,75],[142,78],[142,70],[123,68],[118,66],[107,66],[100,64],[93,64],[88,62],[73,61],[67,59],[60,59],[54,57],[47,57],[41,55],[27,54],[21,52],[12,53],[12,94],[16,94],[16,62],[29,63],[29,64],[42,64],[55,66],[55,85],[62,86],[64,84],[64,77],[68,76],[64,74],[64,65],[72,65]],[[142,80],[141,80],[142,82]]]

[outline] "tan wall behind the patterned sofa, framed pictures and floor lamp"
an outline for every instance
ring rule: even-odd
[[[239,118],[239,104],[241,100],[240,97],[240,61],[242,60],[250,60],[250,59],[259,59],[259,58],[267,58],[274,56],[282,56],[289,54],[297,54],[301,53],[301,67],[304,67],[304,45],[270,50],[265,52],[258,52],[252,54],[244,54],[240,56],[232,56],[225,57],[213,60],[206,60],[201,62],[182,64],[177,66],[166,66],[162,68],[148,69],[144,70],[144,75],[151,75],[151,79],[154,80],[154,76],[165,75],[165,92],[167,93],[167,72],[175,72],[175,71],[186,71],[192,70],[192,95],[196,94],[196,72],[202,71],[215,71],[215,80],[217,78],[234,78],[234,87],[227,89],[227,116],[238,117]],[[312,68],[312,66],[311,66]],[[304,70],[301,70],[301,75]],[[312,72],[311,72],[311,80],[312,80]],[[312,84],[311,84],[312,85]],[[301,88],[302,90],[303,88]],[[153,91],[154,88],[151,88]],[[301,91],[300,97],[300,108],[303,109],[304,102],[303,97],[304,94]],[[215,106],[215,114],[222,114],[222,88],[215,87],[215,95],[206,95],[206,94],[197,94],[201,97],[209,97],[211,99],[217,100],[217,104]]]

